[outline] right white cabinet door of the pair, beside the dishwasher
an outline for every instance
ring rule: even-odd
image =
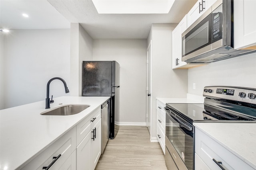
[[[95,137],[94,140],[91,140],[90,158],[92,160],[90,161],[90,167],[94,170],[101,155],[101,119],[92,129],[95,131]]]

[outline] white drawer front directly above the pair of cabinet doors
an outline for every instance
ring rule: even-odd
[[[101,107],[98,107],[96,110],[90,113],[90,115],[88,115],[76,125],[76,146],[78,146],[84,137],[86,137],[86,135],[90,132],[92,127],[96,125],[100,118]]]

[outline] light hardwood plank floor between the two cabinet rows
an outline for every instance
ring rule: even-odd
[[[95,170],[167,170],[158,142],[150,142],[146,126],[120,126],[108,140]]]

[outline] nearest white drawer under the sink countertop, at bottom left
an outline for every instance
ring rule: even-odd
[[[54,164],[50,168],[51,170],[58,170],[66,164],[66,161],[69,162],[69,160],[71,159],[70,156],[72,155],[72,152],[75,152],[75,150],[76,127],[72,128],[60,139],[50,145],[50,147],[48,147],[41,154],[39,154],[36,158],[31,160],[22,168],[22,170],[42,170],[44,166],[48,166],[53,162],[53,157],[57,157],[59,154],[61,154],[61,156],[56,160],[56,162],[54,162]]]

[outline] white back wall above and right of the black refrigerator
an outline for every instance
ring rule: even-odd
[[[146,39],[94,39],[94,61],[120,64],[119,123],[146,122]]]

